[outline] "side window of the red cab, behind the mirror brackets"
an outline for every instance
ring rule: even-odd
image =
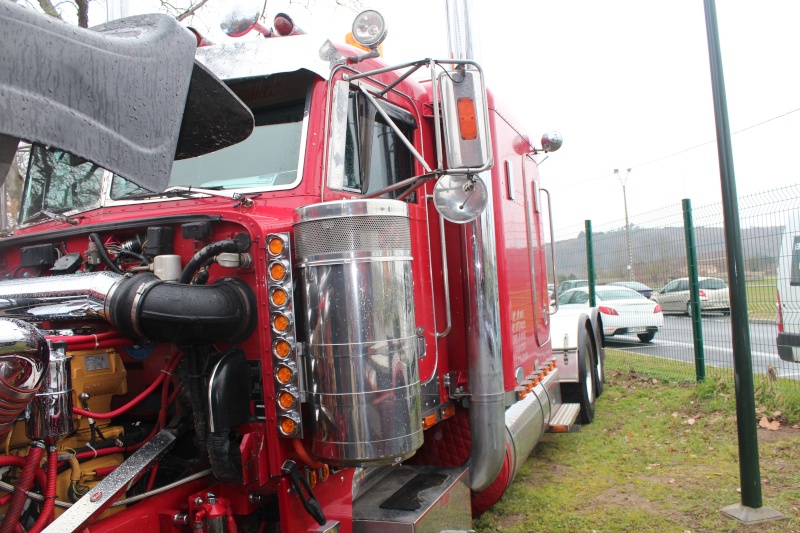
[[[416,123],[405,110],[381,102],[403,136],[413,141]],[[414,175],[414,159],[408,147],[360,92],[350,91],[347,112],[344,186],[372,193]],[[397,198],[392,191],[387,196]],[[413,201],[414,195],[408,198]]]

